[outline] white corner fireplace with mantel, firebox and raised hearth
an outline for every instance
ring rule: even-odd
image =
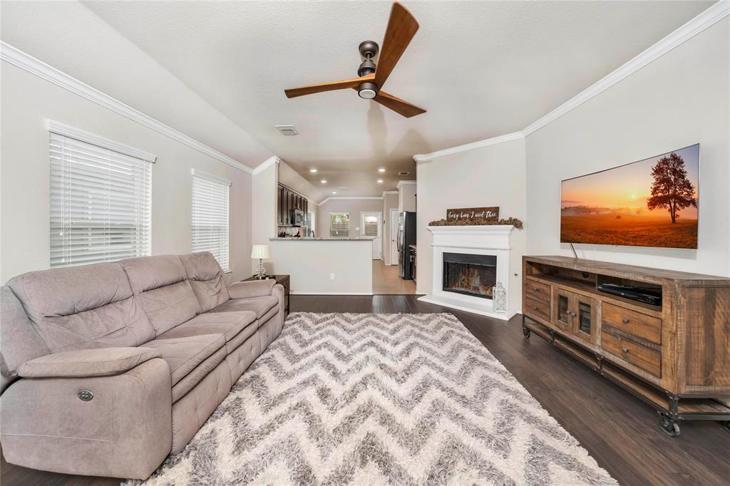
[[[434,235],[431,293],[421,301],[508,320],[511,309],[510,234],[512,225],[429,226]],[[494,312],[491,290],[507,289],[507,312]]]

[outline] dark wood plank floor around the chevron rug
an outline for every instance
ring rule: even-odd
[[[291,296],[299,312],[452,312],[622,485],[728,485],[730,433],[719,423],[683,423],[672,439],[656,412],[548,342],[509,323],[417,300],[417,296]],[[1,464],[3,485],[112,485]]]

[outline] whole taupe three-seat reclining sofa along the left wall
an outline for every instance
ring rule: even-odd
[[[279,335],[284,289],[208,252],[32,271],[1,288],[9,463],[145,479]]]

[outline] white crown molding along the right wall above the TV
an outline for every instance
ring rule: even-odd
[[[682,45],[684,42],[687,42],[692,37],[704,31],[704,29],[714,25],[723,18],[726,18],[728,15],[730,15],[730,1],[718,1],[718,3],[713,4],[712,7],[704,10],[704,12],[697,15],[688,23],[677,28],[677,30],[664,37],[664,39],[661,39],[644,52],[623,64],[623,66],[615,69],[615,71],[611,72],[606,77],[593,83],[593,85],[581,91],[576,96],[573,96],[564,104],[553,109],[553,111],[549,112],[548,115],[539,118],[534,123],[523,128],[522,133],[524,136],[533,134],[535,131],[538,131],[540,128],[548,125],[548,123],[552,123],[559,117],[579,107],[581,104],[585,103],[585,101],[603,93],[617,82],[631,76],[631,74],[634,74],[634,72],[642,69],[642,67],[648,65],[652,61],[656,61],[656,59],[660,58],[662,55],[668,53],[678,45]]]

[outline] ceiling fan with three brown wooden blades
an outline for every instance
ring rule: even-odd
[[[380,90],[385,80],[388,79],[388,75],[391,74],[396,63],[401,58],[401,55],[403,55],[406,47],[408,47],[416,31],[418,31],[418,22],[416,22],[413,15],[405,7],[396,1],[391,9],[388,28],[385,29],[383,50],[380,51],[380,58],[378,59],[377,65],[372,61],[379,50],[377,43],[374,41],[361,42],[358,50],[364,61],[358,69],[358,77],[351,80],[301,86],[301,88],[284,90],[284,93],[287,98],[296,98],[296,96],[322,93],[323,91],[353,88],[357,90],[361,98],[377,101],[384,107],[390,108],[404,117],[410,118],[425,113],[425,109],[416,107],[407,101]]]

